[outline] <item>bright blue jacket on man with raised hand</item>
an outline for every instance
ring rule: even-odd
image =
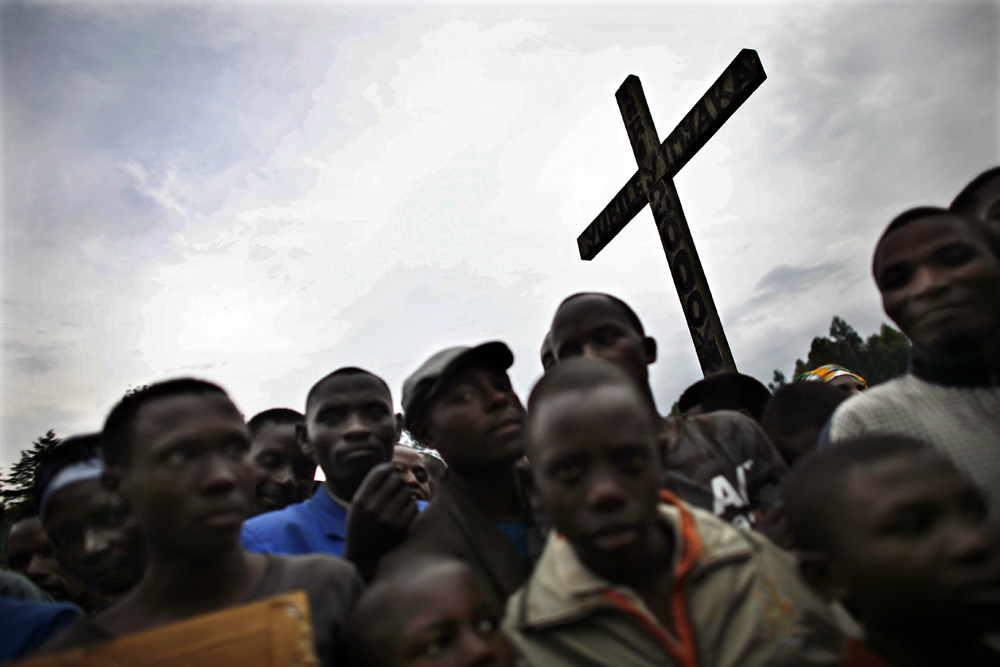
[[[417,501],[420,511],[427,507]],[[347,510],[333,499],[326,485],[312,498],[243,522],[240,542],[247,551],[283,556],[322,553],[344,555]]]

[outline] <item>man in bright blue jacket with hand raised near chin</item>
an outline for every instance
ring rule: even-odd
[[[370,578],[380,556],[406,537],[418,512],[404,473],[391,462],[401,428],[389,387],[378,376],[351,367],[317,382],[296,432],[326,482],[305,502],[244,522],[243,546],[343,556]]]

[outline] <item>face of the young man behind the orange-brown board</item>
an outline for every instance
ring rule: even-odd
[[[250,438],[222,394],[150,400],[135,417],[121,492],[156,552],[201,557],[238,544],[249,513]]]

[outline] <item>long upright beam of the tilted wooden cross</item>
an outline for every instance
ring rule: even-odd
[[[641,187],[649,193],[649,207],[660,233],[660,243],[670,265],[674,287],[684,307],[688,330],[694,341],[705,376],[735,371],[736,362],[729,350],[729,341],[719,320],[712,292],[708,288],[705,271],[701,267],[698,251],[691,238],[691,230],[684,218],[674,182],[667,176],[656,178],[655,162],[663,161],[660,139],[653,125],[653,116],[646,104],[639,77],[630,75],[615,93],[622,120],[628,130],[632,152],[639,165]]]

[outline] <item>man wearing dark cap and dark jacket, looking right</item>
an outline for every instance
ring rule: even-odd
[[[419,556],[458,558],[500,604],[527,579],[537,550],[528,546],[530,521],[515,481],[525,413],[507,377],[513,363],[500,342],[452,347],[403,383],[406,429],[440,452],[448,470],[407,541],[382,560],[379,576]]]

